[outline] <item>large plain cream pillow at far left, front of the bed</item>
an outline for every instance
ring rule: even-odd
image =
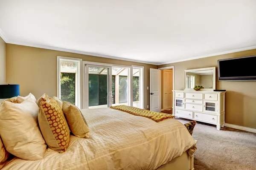
[[[31,96],[20,104],[0,105],[0,135],[9,153],[26,160],[43,159],[47,145],[38,127],[38,110]]]

